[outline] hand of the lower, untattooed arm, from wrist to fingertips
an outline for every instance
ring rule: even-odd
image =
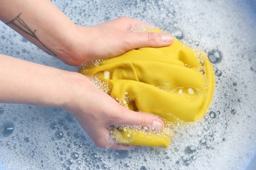
[[[133,112],[110,95],[96,88],[89,78],[69,73],[70,102],[64,109],[74,114],[87,134],[99,148],[131,149],[135,146],[117,144],[110,136],[110,127],[116,125],[147,126],[163,129],[163,121],[151,114]]]

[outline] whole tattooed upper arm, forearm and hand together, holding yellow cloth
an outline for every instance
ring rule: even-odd
[[[92,27],[75,25],[47,0],[0,1],[0,20],[69,65],[119,56],[134,48],[168,46],[173,37],[142,31],[151,25],[127,17]]]

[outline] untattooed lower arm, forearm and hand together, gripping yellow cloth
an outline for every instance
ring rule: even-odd
[[[100,148],[128,149],[111,141],[114,125],[163,129],[160,118],[119,105],[84,75],[0,54],[0,102],[62,107],[74,114]]]

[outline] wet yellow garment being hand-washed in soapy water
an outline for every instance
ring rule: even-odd
[[[79,73],[102,80],[102,88],[107,86],[105,91],[125,107],[156,114],[169,122],[202,118],[215,86],[213,68],[205,53],[192,50],[177,39],[171,46],[139,48],[83,65]],[[167,128],[160,134],[125,130],[114,129],[118,143],[167,147],[171,139]]]

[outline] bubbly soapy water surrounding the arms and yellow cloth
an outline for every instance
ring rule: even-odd
[[[76,24],[130,16],[204,50],[215,71],[215,95],[202,120],[175,126],[169,148],[130,151],[96,148],[65,110],[1,104],[0,169],[246,169],[256,152],[256,16],[251,1],[53,2]],[[7,25],[0,27],[1,53],[77,71]]]

